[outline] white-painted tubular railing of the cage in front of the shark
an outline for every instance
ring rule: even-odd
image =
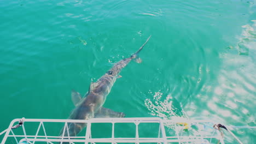
[[[20,119],[11,121],[9,128],[1,144],[12,142],[27,143],[217,143],[224,144],[222,134],[214,129],[210,120],[174,121],[160,118],[92,118],[90,120],[74,119],[23,119],[24,124],[20,128],[11,129]],[[60,124],[61,123],[61,124]],[[68,123],[86,123],[87,126],[78,136],[64,136],[68,129]],[[45,125],[51,125],[46,127]],[[107,128],[96,127],[97,134],[109,130],[109,137],[95,137],[92,125],[106,124]],[[121,128],[120,124],[128,124],[129,127]],[[55,127],[53,125],[59,125]],[[143,127],[142,127],[143,126]],[[61,128],[63,133],[60,134]],[[187,129],[187,128],[188,129]],[[125,134],[120,136],[121,133]],[[187,129],[187,131],[186,131]],[[57,132],[56,132],[57,131]],[[105,131],[106,132],[106,131]],[[129,134],[128,134],[129,133]],[[133,134],[132,134],[133,133]],[[143,134],[144,133],[144,134]],[[132,135],[130,135],[132,134]],[[1,134],[0,134],[1,135]],[[119,135],[119,136],[118,136]]]

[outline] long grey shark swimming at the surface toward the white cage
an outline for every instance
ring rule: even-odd
[[[120,71],[135,59],[136,62],[140,63],[138,54],[143,49],[146,42],[139,48],[139,50],[129,58],[121,59],[116,63],[110,70],[108,70],[103,76],[100,77],[96,82],[91,82],[89,91],[85,94],[84,98],[80,97],[78,92],[72,91],[72,100],[75,104],[75,109],[71,112],[68,119],[91,119],[97,117],[124,117],[123,112],[115,112],[110,109],[106,109],[103,104],[106,101],[107,95],[109,94],[115,80],[119,78]],[[65,130],[63,134],[63,128],[61,130],[61,136],[76,136],[82,129],[86,127],[86,123],[68,123],[68,130]]]

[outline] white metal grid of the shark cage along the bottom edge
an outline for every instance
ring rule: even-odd
[[[218,130],[214,129],[212,125],[214,124],[209,120],[193,120],[193,121],[172,121],[172,120],[162,120],[160,118],[92,118],[90,120],[74,120],[74,119],[25,119],[22,125],[22,134],[16,134],[16,129],[12,130],[11,127],[20,119],[14,119],[11,121],[9,128],[6,130],[5,135],[1,144],[4,144],[8,139],[15,139],[17,143],[26,141],[27,143],[220,143],[224,144],[221,134]],[[31,123],[39,123],[37,125],[37,131],[33,135],[27,135],[28,129],[25,125],[30,125]],[[64,130],[61,135],[48,135],[48,129],[45,128],[45,123],[62,123],[64,125]],[[82,136],[64,136],[64,131],[68,129],[68,123],[86,123],[86,131]],[[92,124],[105,123],[111,125],[111,136],[104,138],[93,138],[92,137]],[[131,137],[117,137],[115,136],[115,127],[120,123],[129,123],[135,127],[135,136]],[[152,125],[157,124],[158,128],[154,129],[155,133],[158,133],[154,137],[143,137],[139,136],[141,134],[141,129],[139,125]],[[183,124],[182,124],[183,123]],[[194,129],[193,133],[188,134],[184,131],[184,123],[189,123],[192,125],[190,129]],[[168,126],[169,127],[166,127]],[[170,128],[171,125],[171,128]],[[207,126],[208,125],[208,126]],[[207,128],[206,128],[207,127]],[[39,131],[43,131],[43,135],[39,135]],[[131,131],[125,129],[126,131]],[[167,132],[166,132],[167,131]],[[170,132],[172,131],[172,132]],[[188,130],[190,131],[190,130]],[[191,130],[192,131],[192,130]],[[150,133],[150,131],[148,131]]]

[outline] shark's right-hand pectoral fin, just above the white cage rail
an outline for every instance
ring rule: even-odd
[[[110,117],[125,117],[123,112],[115,112],[113,110],[101,107],[100,110],[95,113],[95,118],[110,118]]]

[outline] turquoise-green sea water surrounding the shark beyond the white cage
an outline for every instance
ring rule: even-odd
[[[0,131],[14,118],[67,118],[71,90],[86,93],[149,35],[143,62],[123,69],[104,107],[126,117],[255,126],[253,20],[252,0],[2,0]],[[234,133],[256,141],[255,130]]]

